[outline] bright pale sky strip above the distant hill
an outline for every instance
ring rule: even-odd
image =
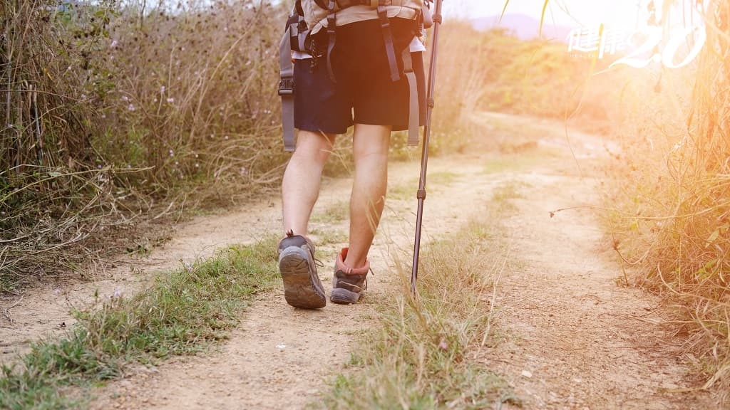
[[[550,0],[545,24],[578,27],[604,23],[616,28],[631,28],[637,22],[639,10],[645,15],[647,0]],[[504,0],[446,0],[445,15],[453,12],[469,18],[499,15]],[[539,20],[545,0],[509,0],[507,14],[525,14]]]

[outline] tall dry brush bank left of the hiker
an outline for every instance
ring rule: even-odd
[[[280,178],[283,8],[1,1],[0,290]]]

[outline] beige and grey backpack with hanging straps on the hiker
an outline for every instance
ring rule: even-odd
[[[302,0],[296,0],[296,4],[287,20],[284,34],[279,48],[279,96],[282,100],[282,123],[284,136],[284,150],[293,152],[296,150],[294,142],[294,69],[291,61],[291,51],[300,51],[313,55],[312,39],[310,30],[313,28],[312,21],[307,23],[305,10],[301,5]],[[396,53],[393,47],[393,36],[388,19],[388,6],[410,7],[416,9],[419,31],[421,34],[433,25],[431,20],[431,0],[304,0],[307,3],[307,14],[314,18],[315,23],[322,20],[327,21],[328,45],[326,51],[327,72],[332,82],[337,82],[331,66],[331,53],[336,40],[335,27],[337,26],[337,12],[348,7],[366,5],[377,10],[380,26],[383,28],[383,42],[385,52],[388,55],[388,66],[391,71],[393,82],[401,79],[401,73],[396,62]],[[313,57],[318,57],[313,55]],[[403,60],[403,75],[408,81],[409,88],[409,125],[408,144],[418,145],[418,128],[420,111],[418,107],[418,88],[416,85],[415,73],[408,47],[401,55]]]

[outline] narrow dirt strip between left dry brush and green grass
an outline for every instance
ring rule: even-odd
[[[155,272],[210,257],[228,244],[253,241],[280,225],[274,209],[272,201],[260,201],[232,214],[196,218],[176,228],[173,239],[148,256],[123,258],[107,271],[90,267],[86,276],[91,282],[64,278],[24,295],[0,297],[0,307],[9,309],[7,317],[0,316],[0,363],[26,352],[30,341],[63,334],[75,322],[70,310],[92,306],[96,294],[109,298],[115,292],[135,293]]]

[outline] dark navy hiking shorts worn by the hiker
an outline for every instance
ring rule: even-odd
[[[391,18],[393,44],[399,71],[401,53],[414,36],[412,20]],[[380,20],[365,20],[337,27],[332,52],[331,82],[325,56],[297,60],[294,64],[294,126],[300,130],[345,134],[353,123],[391,125],[408,129],[409,92],[405,76],[391,80]],[[318,50],[327,49],[326,33],[315,35]],[[420,122],[426,117],[426,80],[423,53],[411,53],[418,82]]]

